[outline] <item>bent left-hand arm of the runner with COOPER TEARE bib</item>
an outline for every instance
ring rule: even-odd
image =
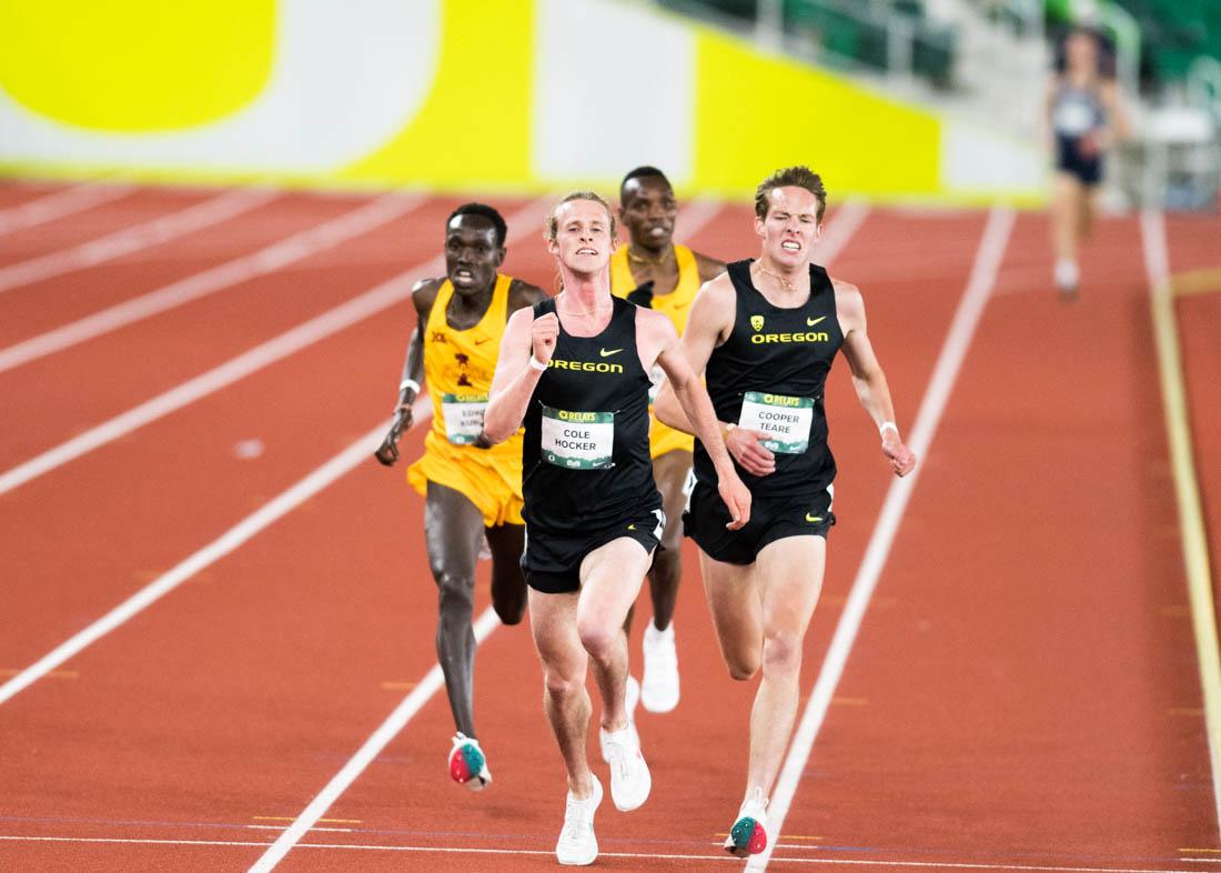
[[[703,374],[712,350],[725,342],[734,330],[736,313],[737,294],[728,273],[720,273],[700,288],[700,293],[691,303],[691,314],[687,316],[681,343],[692,372]],[[695,433],[669,380],[662,383],[662,389],[653,402],[653,413],[663,424],[686,433]],[[775,471],[775,455],[761,444],[767,438],[766,433],[737,427],[736,422],[731,421],[722,421],[720,432],[725,448],[744,470],[756,476]]]

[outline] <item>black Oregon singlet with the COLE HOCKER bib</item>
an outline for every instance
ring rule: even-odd
[[[613,298],[606,328],[556,353],[525,416],[521,490],[527,525],[592,532],[662,503],[648,457],[648,374],[636,350],[636,306]],[[535,317],[556,300],[534,306]]]

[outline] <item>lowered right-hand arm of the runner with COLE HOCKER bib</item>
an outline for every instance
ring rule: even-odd
[[[712,400],[708,399],[707,389],[683,353],[679,346],[679,335],[674,332],[674,325],[670,324],[668,316],[661,313],[639,309],[636,311],[636,336],[641,337],[642,349],[647,349],[645,357],[651,358],[662,368],[665,374],[665,383],[674,392],[686,419],[695,424],[696,436],[700,437],[708,451],[708,457],[712,458],[712,463],[717,468],[717,488],[720,491],[720,499],[725,502],[729,516],[733,519],[725,526],[729,530],[739,530],[751,519],[751,492],[737,477],[737,471],[734,469],[734,463],[722,440],[720,422],[717,421]],[[646,369],[652,369],[652,361]]]

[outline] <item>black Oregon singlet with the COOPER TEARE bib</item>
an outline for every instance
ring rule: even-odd
[[[835,479],[823,407],[827,374],[844,344],[835,288],[827,271],[811,264],[810,299],[796,309],[780,309],[751,282],[750,260],[726,270],[737,311],[729,338],[708,358],[708,396],[719,420],[773,435],[764,446],[775,454],[770,475],[752,476],[741,466],[737,475],[758,496],[822,491]],[[716,486],[716,469],[698,440],[695,474]]]

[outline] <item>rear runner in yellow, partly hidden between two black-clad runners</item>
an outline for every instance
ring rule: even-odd
[[[643,166],[624,176],[619,188],[619,217],[628,228],[630,242],[610,256],[610,293],[664,313],[681,336],[700,286],[720,275],[725,265],[674,243],[676,215],[674,189],[661,170]],[[654,391],[659,381],[653,374]],[[679,702],[673,617],[683,571],[679,548],[694,440],[652,418],[648,442],[667,523],[663,548],[657,549],[648,571],[653,620],[645,629],[640,702],[650,712],[669,712]],[[630,615],[628,620],[631,621]],[[629,687],[629,695],[632,691]]]

